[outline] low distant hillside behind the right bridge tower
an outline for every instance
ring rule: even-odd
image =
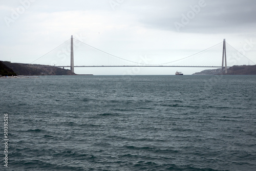
[[[223,74],[221,69],[204,70],[193,75],[217,75]],[[225,75],[256,75],[256,65],[254,66],[233,66],[227,69]]]

